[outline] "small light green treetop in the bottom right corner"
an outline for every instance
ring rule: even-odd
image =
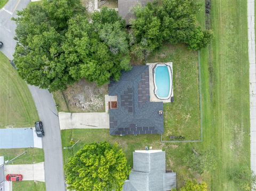
[[[241,164],[234,165],[228,170],[228,178],[234,181],[239,190],[254,190],[256,189],[256,176],[251,171],[250,167]]]

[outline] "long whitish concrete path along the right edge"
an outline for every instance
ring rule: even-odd
[[[250,78],[250,135],[251,135],[251,170],[256,173],[256,64],[255,64],[255,30],[254,0],[247,1],[248,52]]]

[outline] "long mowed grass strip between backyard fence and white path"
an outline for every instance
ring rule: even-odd
[[[247,46],[247,1],[211,1],[211,65],[205,99],[204,144],[218,151],[217,170],[211,190],[239,190],[228,180],[236,165],[250,167],[249,60]],[[206,65],[205,65],[206,67]],[[206,68],[204,68],[206,72]],[[205,82],[206,83],[206,82]],[[206,94],[207,95],[207,94]]]

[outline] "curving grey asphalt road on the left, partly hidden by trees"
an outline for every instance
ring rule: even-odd
[[[1,51],[10,59],[13,59],[15,48],[15,23],[10,19],[15,17],[15,11],[22,10],[28,5],[30,0],[9,0],[0,10],[0,40],[4,46]],[[61,137],[59,119],[55,103],[47,90],[39,89],[35,86],[28,86],[34,98],[39,118],[44,123],[45,137],[43,138],[43,148],[45,157],[45,183],[47,191],[65,190]]]

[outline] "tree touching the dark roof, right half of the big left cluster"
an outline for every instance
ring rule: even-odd
[[[111,13],[111,14],[110,14]],[[114,18],[108,20],[102,18]],[[71,75],[106,84],[110,78],[118,80],[121,71],[130,70],[130,55],[127,33],[123,20],[116,11],[103,8],[94,12],[92,22],[86,16],[70,19],[64,45],[68,65],[75,66]]]

